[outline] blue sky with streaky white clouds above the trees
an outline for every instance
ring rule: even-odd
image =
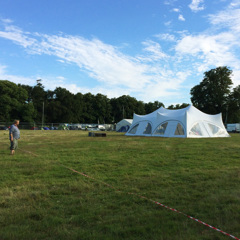
[[[240,84],[239,0],[0,0],[0,79],[165,106],[219,66]]]

